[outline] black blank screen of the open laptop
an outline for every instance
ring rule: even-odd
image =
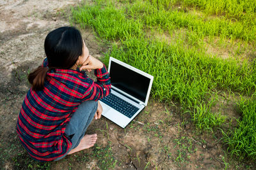
[[[150,78],[113,62],[113,60],[111,61],[109,76],[113,86],[145,102]]]

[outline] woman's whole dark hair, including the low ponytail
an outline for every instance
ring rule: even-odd
[[[47,71],[54,68],[69,69],[83,54],[83,38],[75,27],[60,27],[49,32],[44,41],[48,67],[39,66],[28,75],[33,90],[43,90]]]

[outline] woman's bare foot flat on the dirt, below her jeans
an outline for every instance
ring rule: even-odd
[[[88,148],[94,146],[96,141],[97,141],[97,134],[86,134],[81,139],[79,145],[76,148],[70,150],[70,152],[68,152],[68,155],[75,153],[75,152],[79,152],[81,150],[88,149]]]

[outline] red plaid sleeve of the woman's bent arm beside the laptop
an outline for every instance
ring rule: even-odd
[[[111,92],[111,81],[106,66],[104,65],[102,69],[95,69],[94,74],[97,81],[88,79],[88,89],[83,96],[83,101],[98,101]]]

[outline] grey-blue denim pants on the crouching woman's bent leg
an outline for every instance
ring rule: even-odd
[[[87,127],[92,122],[97,108],[97,101],[84,101],[78,106],[76,112],[73,113],[65,130],[65,134],[70,136],[72,143],[72,146],[68,152],[79,145],[81,139],[84,137]],[[58,157],[54,161],[63,159],[63,157],[68,154],[68,152],[62,157]]]

